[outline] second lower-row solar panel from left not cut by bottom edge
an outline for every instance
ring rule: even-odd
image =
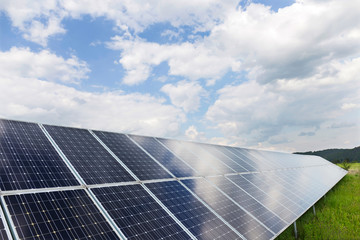
[[[276,198],[272,198],[268,193],[260,190],[256,185],[248,182],[241,175],[228,176],[233,183],[235,183],[242,190],[247,192],[250,196],[259,201],[267,209],[275,212],[286,223],[291,223],[296,219],[296,214],[288,209],[285,205],[279,202]]]

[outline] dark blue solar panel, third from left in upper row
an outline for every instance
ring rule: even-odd
[[[126,135],[101,131],[94,133],[139,179],[172,178]]]

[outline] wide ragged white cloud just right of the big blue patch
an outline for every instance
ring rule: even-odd
[[[116,36],[108,47],[121,50],[119,63],[127,71],[123,82],[133,85],[144,82],[151,68],[167,61],[169,74],[196,80],[199,78],[220,78],[229,68],[232,60],[219,56],[203,44],[165,44],[145,42],[139,38]]]

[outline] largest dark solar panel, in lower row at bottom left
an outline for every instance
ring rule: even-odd
[[[84,190],[4,198],[20,239],[119,239]]]

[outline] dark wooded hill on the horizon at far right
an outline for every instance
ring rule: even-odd
[[[295,154],[317,155],[333,163],[348,159],[350,162],[360,162],[360,146],[353,149],[326,149],[313,152],[295,152]]]

